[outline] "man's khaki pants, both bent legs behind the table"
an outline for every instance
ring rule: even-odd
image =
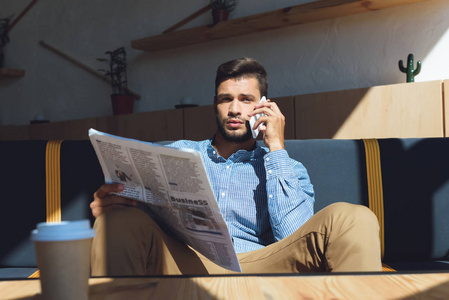
[[[137,208],[103,214],[94,228],[93,276],[233,273],[165,234]],[[334,203],[290,236],[238,259],[243,273],[381,271],[379,224],[365,206]]]

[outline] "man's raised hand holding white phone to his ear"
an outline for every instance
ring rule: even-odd
[[[267,100],[267,102],[258,103],[255,109],[248,116],[252,117],[256,114],[265,114],[261,116],[255,123],[253,129],[260,124],[260,131],[263,132],[263,140],[270,151],[284,149],[284,128],[285,117],[276,103]]]

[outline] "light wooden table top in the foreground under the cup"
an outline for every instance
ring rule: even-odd
[[[449,299],[449,273],[91,278],[90,299]],[[0,299],[41,299],[37,279],[0,281]]]

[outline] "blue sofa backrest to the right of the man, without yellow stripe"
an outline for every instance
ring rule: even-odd
[[[385,261],[448,260],[449,139],[379,139]],[[286,141],[307,168],[315,211],[337,201],[368,205],[361,140]]]

